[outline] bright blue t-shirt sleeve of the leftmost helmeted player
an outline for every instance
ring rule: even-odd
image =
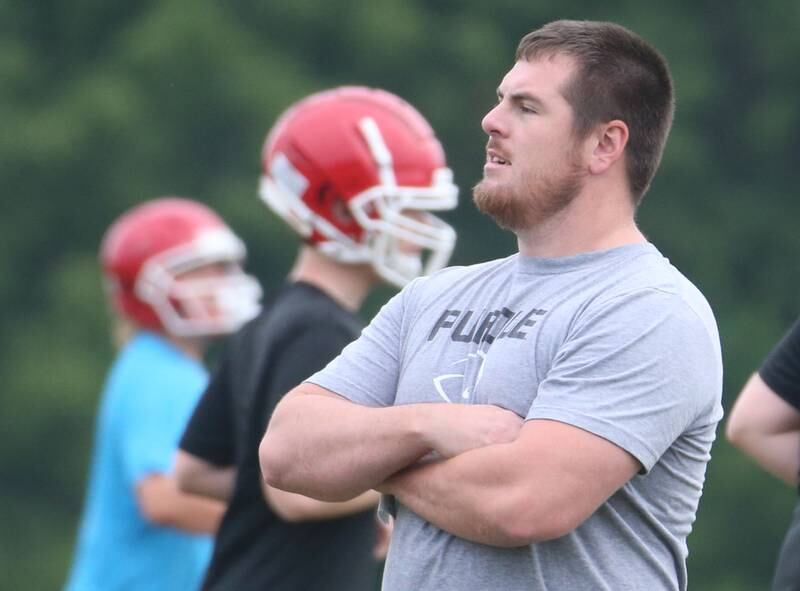
[[[119,441],[129,482],[172,469],[178,441],[206,379],[202,371],[153,370],[133,385],[135,395],[128,397],[120,417]]]

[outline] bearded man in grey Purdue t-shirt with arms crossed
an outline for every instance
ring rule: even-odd
[[[668,66],[623,27],[557,21],[497,99],[474,198],[519,253],[395,296],[278,405],[265,480],[387,494],[386,591],[686,589],[722,362],[705,298],[635,222]]]

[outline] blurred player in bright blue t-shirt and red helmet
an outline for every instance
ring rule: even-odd
[[[124,213],[100,248],[120,351],[107,376],[67,591],[196,589],[224,505],[178,490],[175,449],[207,383],[202,356],[259,309],[242,242],[192,200]]]

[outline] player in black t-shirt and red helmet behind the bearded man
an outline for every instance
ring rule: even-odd
[[[261,198],[303,244],[285,285],[227,343],[181,439],[182,489],[229,502],[203,588],[374,589],[378,494],[328,503],[263,486],[258,446],[281,396],[358,336],[374,286],[444,266],[455,233],[430,211],[455,207],[458,191],[422,115],[364,87],[290,107],[262,165]]]

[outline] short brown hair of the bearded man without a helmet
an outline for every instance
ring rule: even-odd
[[[554,21],[525,35],[516,60],[556,54],[572,57],[578,65],[562,89],[572,106],[578,137],[614,119],[628,125],[628,183],[638,205],[661,161],[675,111],[666,60],[624,27],[570,20]]]

